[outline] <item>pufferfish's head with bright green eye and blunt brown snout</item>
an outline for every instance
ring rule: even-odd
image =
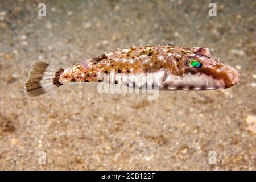
[[[208,48],[194,47],[181,60],[187,79],[185,86],[192,90],[225,89],[239,81],[237,70],[213,57]]]

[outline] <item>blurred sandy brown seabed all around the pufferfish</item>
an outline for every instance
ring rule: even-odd
[[[255,170],[255,1],[0,1],[0,169]],[[240,72],[212,92],[23,91],[30,65],[69,68],[88,48],[205,46]],[[209,163],[209,152],[216,164]],[[46,164],[40,163],[43,156]],[[210,153],[211,154],[211,153]]]

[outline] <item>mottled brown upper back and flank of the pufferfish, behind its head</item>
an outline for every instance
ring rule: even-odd
[[[184,70],[181,57],[184,53],[195,51],[188,47],[143,46],[122,49],[84,61],[65,71],[61,80],[65,81],[97,81],[100,73],[152,73],[166,68],[175,75],[182,75]]]

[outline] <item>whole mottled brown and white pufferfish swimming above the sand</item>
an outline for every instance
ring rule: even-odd
[[[114,77],[106,79],[111,74]],[[142,46],[104,52],[68,69],[36,61],[24,89],[34,97],[67,82],[104,81],[140,89],[216,90],[236,85],[238,76],[205,47]]]

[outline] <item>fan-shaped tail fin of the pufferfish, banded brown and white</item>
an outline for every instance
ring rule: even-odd
[[[30,73],[24,84],[28,97],[35,97],[47,93],[49,90],[63,84],[59,82],[64,69],[55,68],[53,65],[42,61],[35,61],[31,65]]]

